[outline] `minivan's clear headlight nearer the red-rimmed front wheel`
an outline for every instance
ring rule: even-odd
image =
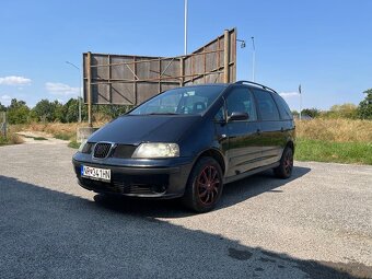
[[[179,147],[176,143],[142,143],[131,158],[154,159],[179,156]]]

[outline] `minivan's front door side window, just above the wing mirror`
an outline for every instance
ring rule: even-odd
[[[256,106],[252,93],[246,88],[233,89],[226,97],[228,116],[233,112],[248,114],[248,120],[257,120]]]

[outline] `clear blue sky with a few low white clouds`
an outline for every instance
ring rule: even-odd
[[[237,27],[237,79],[276,89],[298,109],[354,103],[372,88],[372,1],[188,0],[188,49]],[[66,102],[79,92],[82,53],[177,56],[184,1],[26,1],[0,5],[0,102]]]

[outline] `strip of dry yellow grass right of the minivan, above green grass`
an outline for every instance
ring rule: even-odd
[[[372,142],[372,121],[351,119],[322,119],[297,121],[300,139],[334,142]]]

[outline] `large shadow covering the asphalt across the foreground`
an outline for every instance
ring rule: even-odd
[[[367,278],[0,175],[2,278]]]

